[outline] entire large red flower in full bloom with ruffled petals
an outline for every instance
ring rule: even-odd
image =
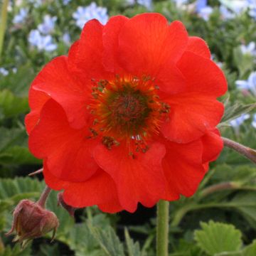
[[[88,21],[31,85],[28,145],[69,206],[134,212],[192,196],[223,149],[227,90],[206,43],[160,14]]]

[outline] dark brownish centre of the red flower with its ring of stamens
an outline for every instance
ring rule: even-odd
[[[145,149],[169,112],[169,105],[159,100],[154,81],[117,75],[112,81],[93,80],[92,85],[93,136],[102,137],[108,149],[124,140]]]

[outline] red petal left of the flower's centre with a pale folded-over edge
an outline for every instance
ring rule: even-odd
[[[81,128],[85,125],[86,105],[90,99],[90,90],[70,74],[67,57],[60,56],[48,63],[38,74],[38,79],[33,82],[32,87],[45,92],[58,102],[74,128]]]

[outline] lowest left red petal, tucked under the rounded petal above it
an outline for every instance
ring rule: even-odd
[[[83,208],[98,205],[102,211],[107,213],[116,213],[122,210],[114,181],[102,169],[97,169],[96,173],[87,181],[72,182],[63,181],[54,176],[45,163],[43,176],[50,188],[64,189],[63,199],[69,206]]]

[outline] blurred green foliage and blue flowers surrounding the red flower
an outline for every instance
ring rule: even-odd
[[[256,0],[1,0],[0,9],[0,255],[155,255],[155,208],[109,215],[91,207],[73,219],[55,192],[48,201],[60,220],[54,242],[49,234],[22,250],[4,236],[18,201],[36,200],[44,187],[41,175],[28,177],[42,165],[27,147],[28,88],[91,18],[105,24],[116,14],[159,12],[182,21],[206,40],[228,79],[222,135],[256,148]],[[169,236],[172,256],[255,256],[256,166],[224,149],[196,195],[171,203]]]

